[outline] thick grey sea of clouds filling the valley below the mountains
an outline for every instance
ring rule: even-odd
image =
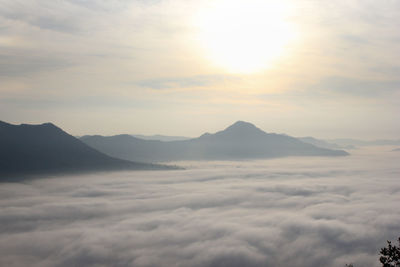
[[[380,266],[400,153],[351,152],[3,183],[0,266]]]

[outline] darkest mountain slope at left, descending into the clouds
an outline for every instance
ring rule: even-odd
[[[164,168],[112,158],[51,123],[12,125],[0,121],[0,180],[45,173]]]

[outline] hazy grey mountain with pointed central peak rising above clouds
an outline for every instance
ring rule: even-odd
[[[243,121],[214,134],[182,141],[143,140],[130,135],[85,136],[81,140],[113,157],[152,162],[348,155],[343,150],[319,148],[287,135],[266,133]]]

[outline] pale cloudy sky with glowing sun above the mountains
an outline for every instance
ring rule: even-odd
[[[396,0],[0,0],[0,119],[399,138]]]

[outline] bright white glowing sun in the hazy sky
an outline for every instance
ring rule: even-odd
[[[252,73],[271,66],[294,39],[283,1],[219,0],[199,12],[199,42],[226,71]]]

